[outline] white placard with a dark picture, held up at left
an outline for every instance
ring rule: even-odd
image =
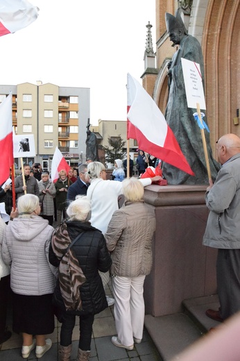
[[[34,135],[15,135],[13,133],[14,158],[35,157]]]

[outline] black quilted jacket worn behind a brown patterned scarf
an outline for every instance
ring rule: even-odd
[[[83,311],[70,312],[74,314],[97,314],[108,307],[103,283],[98,274],[98,270],[107,272],[112,265],[105,238],[101,231],[92,227],[89,222],[67,221],[67,230],[71,241],[73,241],[79,233],[85,232],[85,235],[72,246],[72,249],[74,249],[83,274],[87,278],[87,281],[80,287]],[[58,267],[60,263],[53,253],[52,246],[49,248],[49,262],[56,267]],[[53,303],[62,311],[66,312],[58,282],[55,287]],[[69,311],[67,312],[69,313]]]

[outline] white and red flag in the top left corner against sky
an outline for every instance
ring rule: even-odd
[[[38,10],[27,0],[1,0],[0,36],[15,33],[32,24],[37,19]]]

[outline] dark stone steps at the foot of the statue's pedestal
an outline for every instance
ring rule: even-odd
[[[187,346],[220,323],[205,315],[207,308],[218,310],[218,297],[207,296],[182,302],[183,312],[166,316],[145,316],[145,327],[162,361],[169,361]]]

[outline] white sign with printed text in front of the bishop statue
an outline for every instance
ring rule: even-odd
[[[200,109],[206,109],[200,65],[197,62],[185,58],[181,58],[181,61],[187,106],[196,109],[196,104],[198,103]]]

